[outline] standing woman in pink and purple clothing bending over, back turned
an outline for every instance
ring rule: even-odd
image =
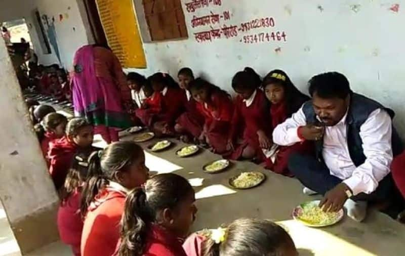
[[[71,87],[75,116],[95,125],[109,144],[118,141],[118,130],[131,126],[124,110],[131,92],[117,57],[111,50],[88,45],[76,51]]]

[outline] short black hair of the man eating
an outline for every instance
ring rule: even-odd
[[[351,93],[349,81],[339,72],[327,72],[313,76],[309,82],[309,94],[323,99],[345,99]]]

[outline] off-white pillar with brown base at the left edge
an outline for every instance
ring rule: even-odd
[[[58,239],[59,198],[32,129],[5,44],[0,44],[0,199],[23,253]],[[41,230],[41,236],[38,234]]]

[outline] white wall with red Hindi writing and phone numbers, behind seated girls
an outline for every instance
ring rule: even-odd
[[[197,75],[204,75],[218,86],[231,90],[232,75],[245,66],[255,68],[261,75],[281,68],[307,93],[306,82],[312,75],[336,70],[349,78],[354,91],[393,108],[397,113],[396,125],[405,132],[402,107],[405,1],[395,2],[400,5],[398,13],[389,10],[393,2],[377,0],[222,0],[220,7],[210,4],[189,13],[184,4],[191,1],[182,0],[189,38],[145,43],[147,69],[136,71],[145,75],[156,71],[176,75],[179,68],[189,66]],[[135,2],[140,19],[142,5],[140,1]],[[225,22],[221,19],[221,27],[223,24],[240,26],[241,22],[262,17],[273,17],[275,27],[238,31],[238,36],[230,39],[196,42],[193,33],[209,30],[210,26],[192,28],[193,15],[199,17],[210,11],[228,10],[232,17]],[[142,21],[139,23],[141,30],[144,29]],[[285,31],[287,41],[240,42],[244,35],[271,31]],[[278,47],[279,53],[275,52]]]

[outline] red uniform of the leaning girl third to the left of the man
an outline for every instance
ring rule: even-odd
[[[209,144],[217,153],[225,153],[233,114],[231,98],[224,92],[213,92],[210,104],[197,103],[197,109],[205,118]]]

